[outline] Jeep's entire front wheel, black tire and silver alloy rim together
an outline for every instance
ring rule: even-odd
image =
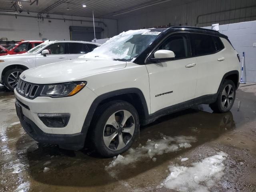
[[[139,130],[138,112],[130,103],[114,101],[96,110],[91,126],[91,141],[104,157],[117,156],[128,150]]]

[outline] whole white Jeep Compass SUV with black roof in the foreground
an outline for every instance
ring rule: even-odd
[[[227,36],[194,27],[123,32],[76,60],[24,71],[16,111],[37,142],[79,150],[85,140],[102,156],[123,153],[139,126],[210,104],[227,112],[240,62]]]

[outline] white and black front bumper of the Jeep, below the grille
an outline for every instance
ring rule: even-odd
[[[84,122],[88,110],[96,98],[94,92],[85,87],[71,97],[37,97],[33,100],[21,96],[16,90],[14,93],[16,105],[18,104],[22,111],[22,115],[18,115],[22,127],[34,140],[58,144],[61,148],[70,150],[83,148],[88,130],[84,128]],[[65,127],[47,127],[38,117],[40,113],[69,113],[70,119]]]

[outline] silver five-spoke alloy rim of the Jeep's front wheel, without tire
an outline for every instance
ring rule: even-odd
[[[104,127],[103,140],[110,150],[124,148],[134,134],[134,117],[127,110],[120,110],[112,114]]]

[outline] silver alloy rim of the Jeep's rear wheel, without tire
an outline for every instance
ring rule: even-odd
[[[224,109],[230,108],[234,102],[234,88],[228,84],[222,91],[221,105]]]

